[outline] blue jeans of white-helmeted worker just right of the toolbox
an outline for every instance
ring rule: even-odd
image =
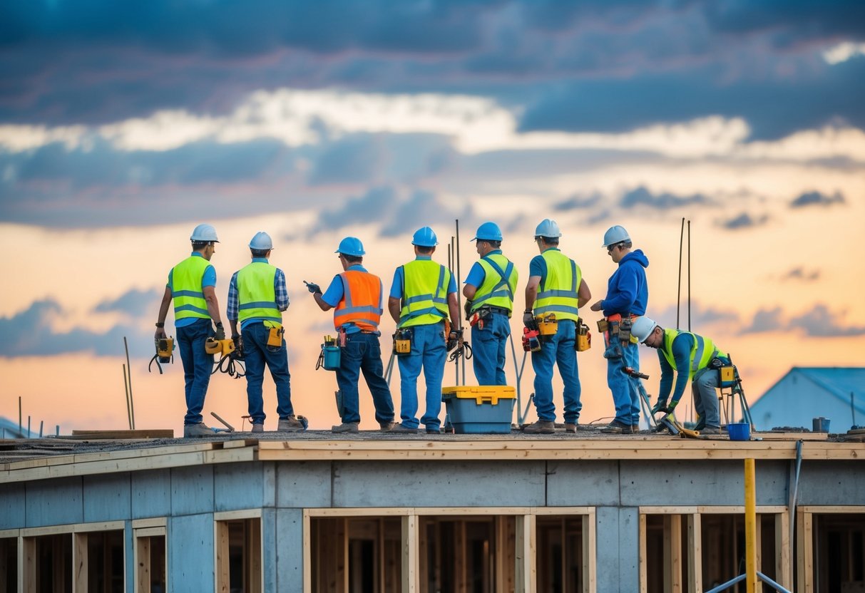
[[[580,376],[577,369],[577,352],[574,343],[577,339],[577,326],[573,320],[563,319],[559,328],[548,342],[541,344],[540,352],[532,353],[532,367],[535,369],[535,410],[538,419],[555,422],[553,404],[553,365],[559,366],[561,380],[565,384],[563,399],[565,403],[565,422],[577,424],[580,418]]]

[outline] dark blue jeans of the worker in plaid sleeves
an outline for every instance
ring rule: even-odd
[[[265,401],[261,397],[261,386],[265,380],[265,364],[270,369],[273,383],[276,384],[276,412],[283,420],[292,416],[292,375],[288,373],[288,350],[285,339],[281,346],[268,346],[270,328],[264,323],[250,322],[241,331],[243,338],[243,357],[247,366],[247,399],[249,415],[253,424],[264,424]]]

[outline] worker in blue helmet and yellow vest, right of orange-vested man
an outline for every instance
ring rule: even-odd
[[[463,346],[458,328],[457,284],[444,265],[432,261],[439,245],[432,228],[418,229],[412,238],[414,260],[394,272],[388,311],[397,323],[398,335],[411,341],[411,352],[397,356],[400,366],[400,419],[394,432],[417,432],[417,379],[423,368],[426,379],[426,412],[420,418],[428,434],[438,434],[441,425],[441,381],[445,374],[447,342]],[[445,319],[452,330],[445,336]]]

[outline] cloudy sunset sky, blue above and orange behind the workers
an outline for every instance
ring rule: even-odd
[[[593,300],[615,270],[603,234],[625,226],[650,260],[647,314],[712,337],[751,401],[793,366],[862,365],[865,3],[10,0],[0,70],[0,416],[20,398],[36,430],[128,427],[126,337],[136,427],[180,434],[180,361],[147,363],[200,222],[221,240],[223,311],[249,239],[272,235],[313,428],[339,421],[333,373],[314,370],[333,327],[302,280],[328,284],[351,235],[388,290],[420,226],[447,263],[457,220],[461,279],[474,229],[502,227],[516,308],[538,222],[559,223]],[[613,415],[601,353],[596,335],[579,356],[581,422]],[[206,421],[240,428],[245,388],[215,376]],[[272,430],[267,381],[265,400]]]

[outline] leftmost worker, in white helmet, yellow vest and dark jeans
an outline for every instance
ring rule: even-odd
[[[216,271],[210,258],[216,252],[216,229],[208,224],[195,226],[189,236],[192,253],[189,258],[171,268],[168,284],[165,285],[162,303],[157,315],[156,339],[165,335],[165,316],[171,299],[174,299],[174,327],[177,331],[177,348],[183,360],[183,377],[186,389],[186,417],[183,418],[183,437],[212,437],[213,431],[202,422],[204,396],[208,392],[210,371],[213,369],[213,354],[204,349],[204,342],[211,336],[225,339],[225,329],[216,300]],[[216,328],[211,326],[216,323]]]

